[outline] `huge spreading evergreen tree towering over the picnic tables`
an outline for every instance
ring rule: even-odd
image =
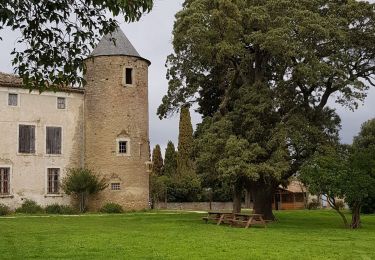
[[[336,138],[329,98],[355,109],[365,83],[375,85],[374,5],[186,0],[176,18],[158,114],[198,103],[197,161],[235,190],[250,189],[255,211],[272,219],[274,189]]]

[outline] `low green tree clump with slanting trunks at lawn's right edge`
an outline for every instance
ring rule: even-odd
[[[350,228],[360,227],[361,207],[375,196],[375,119],[362,125],[351,147],[324,147],[306,162],[301,173],[310,192],[327,195],[337,212],[336,198],[345,199],[352,209]]]

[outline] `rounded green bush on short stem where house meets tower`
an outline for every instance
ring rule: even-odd
[[[80,212],[86,210],[86,200],[89,195],[97,194],[107,186],[104,178],[84,168],[69,169],[61,185],[66,194],[73,194],[79,199]]]

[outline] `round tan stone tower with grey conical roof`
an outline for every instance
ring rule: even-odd
[[[109,184],[89,206],[114,202],[125,209],[147,208],[150,61],[118,28],[103,37],[85,63],[85,166]]]

